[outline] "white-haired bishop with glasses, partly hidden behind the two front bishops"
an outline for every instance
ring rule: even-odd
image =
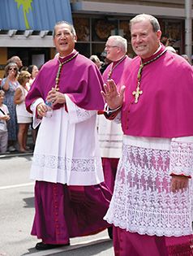
[[[127,56],[127,40],[121,36],[110,36],[106,41],[106,58],[111,61],[105,72],[104,81],[110,78],[116,85],[122,81],[122,73],[127,70],[131,58]],[[114,180],[118,167],[118,160],[122,155],[122,127],[108,119],[104,115],[98,116],[98,137],[100,143],[102,165],[105,176],[105,184],[111,192],[114,191]]]

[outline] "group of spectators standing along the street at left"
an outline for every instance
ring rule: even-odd
[[[19,56],[6,62],[4,77],[0,85],[0,154],[19,153],[32,150],[27,145],[28,128],[31,129],[33,144],[36,130],[32,130],[32,115],[25,109],[25,97],[39,70],[36,65],[23,67]]]

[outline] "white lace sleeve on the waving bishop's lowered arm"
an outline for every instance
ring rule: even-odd
[[[171,142],[169,171],[177,175],[192,175],[193,143]]]

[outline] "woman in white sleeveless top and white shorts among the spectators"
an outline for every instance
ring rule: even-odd
[[[19,124],[18,143],[19,152],[24,153],[27,148],[28,127],[32,123],[32,114],[26,111],[25,97],[28,94],[27,83],[30,79],[30,73],[22,71],[19,73],[19,86],[15,90],[14,102],[16,104],[17,122]]]

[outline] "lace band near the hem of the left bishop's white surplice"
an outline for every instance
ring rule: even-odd
[[[61,169],[63,171],[92,172],[101,166],[101,158],[71,159],[54,155],[34,154],[33,165],[40,169]]]

